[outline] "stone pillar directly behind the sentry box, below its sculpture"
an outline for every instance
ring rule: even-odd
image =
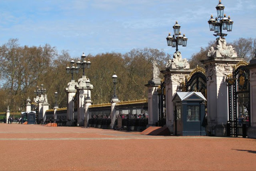
[[[166,126],[171,133],[174,133],[174,106],[172,99],[177,91],[181,91],[179,86],[185,81],[185,76],[189,76],[190,69],[167,69],[161,71],[164,74],[166,89]]]

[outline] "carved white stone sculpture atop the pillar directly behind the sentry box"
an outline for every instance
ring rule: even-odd
[[[166,66],[167,69],[189,69],[188,60],[186,58],[182,59],[181,53],[179,51],[173,54],[173,59],[168,60]]]

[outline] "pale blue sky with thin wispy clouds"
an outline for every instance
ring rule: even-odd
[[[190,58],[208,45],[214,32],[207,21],[217,16],[218,0],[0,0],[0,45],[18,38],[20,45],[50,44],[71,57],[82,52],[126,53],[133,48],[167,46],[176,20],[186,34],[182,58]],[[226,37],[256,38],[256,0],[222,0],[224,13],[234,21]]]

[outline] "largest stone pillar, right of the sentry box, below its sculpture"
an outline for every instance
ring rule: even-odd
[[[202,60],[207,81],[208,125],[206,135],[225,136],[228,121],[228,86],[226,78],[232,74],[233,66],[243,58],[216,57]]]

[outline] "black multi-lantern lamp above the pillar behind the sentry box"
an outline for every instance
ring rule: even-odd
[[[172,27],[174,30],[173,36],[169,33],[169,36],[166,38],[168,46],[176,47],[176,52],[178,52],[178,45],[187,46],[188,40],[185,34],[183,34],[183,36],[181,35],[180,27],[178,21],[176,21],[176,24]]]

